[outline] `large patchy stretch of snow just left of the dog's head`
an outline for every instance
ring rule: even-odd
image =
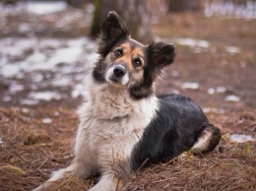
[[[40,99],[62,97],[56,91],[39,92],[40,88],[70,88],[75,92],[72,96],[83,95],[80,84],[96,59],[96,42],[88,37],[0,39],[0,74],[12,81],[3,99],[10,101],[12,95],[28,88],[37,93],[21,98],[21,104],[37,104]],[[29,80],[31,87],[19,84],[19,79]]]

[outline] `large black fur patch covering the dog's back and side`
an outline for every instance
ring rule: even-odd
[[[209,121],[202,109],[189,97],[167,95],[160,97],[160,110],[146,128],[132,154],[132,168],[166,162],[188,151],[199,132]],[[146,165],[147,165],[146,164]]]

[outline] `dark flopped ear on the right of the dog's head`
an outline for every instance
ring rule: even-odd
[[[173,44],[152,42],[149,44],[148,50],[153,64],[160,69],[171,64],[175,59],[175,46]]]

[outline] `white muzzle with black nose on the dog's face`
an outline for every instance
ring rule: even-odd
[[[129,76],[127,69],[122,65],[111,66],[106,72],[106,81],[112,85],[127,85]]]

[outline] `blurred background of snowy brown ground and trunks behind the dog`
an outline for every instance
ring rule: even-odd
[[[205,112],[256,110],[255,0],[1,0],[0,105],[75,109],[111,10],[133,38],[176,45],[159,95],[191,96]]]

